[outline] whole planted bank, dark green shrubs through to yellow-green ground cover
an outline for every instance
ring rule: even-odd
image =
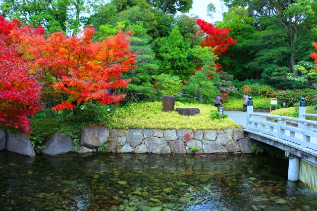
[[[35,115],[31,122],[30,139],[33,143],[47,140],[53,133],[61,132],[78,142],[80,130],[85,126],[104,126],[107,128],[158,128],[158,129],[226,129],[239,128],[231,119],[211,120],[211,110],[216,107],[206,104],[176,102],[175,108],[199,108],[200,114],[195,116],[179,115],[176,111],[162,112],[161,102],[130,103],[118,107],[115,111],[107,111],[108,106],[85,104],[80,113],[62,111],[54,118],[44,112]]]

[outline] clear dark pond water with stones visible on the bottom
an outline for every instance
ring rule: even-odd
[[[259,155],[0,152],[0,210],[317,210],[317,193],[286,178],[286,160]]]

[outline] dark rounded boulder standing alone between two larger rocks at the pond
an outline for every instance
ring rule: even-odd
[[[42,150],[44,155],[56,156],[72,152],[74,150],[73,139],[55,132],[49,140],[44,143],[45,148]]]

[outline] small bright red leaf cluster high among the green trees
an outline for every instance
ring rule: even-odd
[[[228,28],[216,28],[211,23],[199,18],[197,19],[197,24],[206,34],[202,46],[216,47],[214,54],[217,56],[221,56],[221,54],[225,52],[230,45],[237,42],[228,36],[228,33],[230,32],[230,29]]]

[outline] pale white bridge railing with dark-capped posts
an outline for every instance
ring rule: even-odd
[[[254,113],[252,97],[249,97],[246,129],[268,134],[317,151],[317,121],[305,119],[306,116],[317,117],[317,114],[306,114],[305,108],[305,99],[302,98],[299,118]],[[277,122],[272,121],[272,119],[277,120]],[[295,124],[286,124],[286,121]]]

